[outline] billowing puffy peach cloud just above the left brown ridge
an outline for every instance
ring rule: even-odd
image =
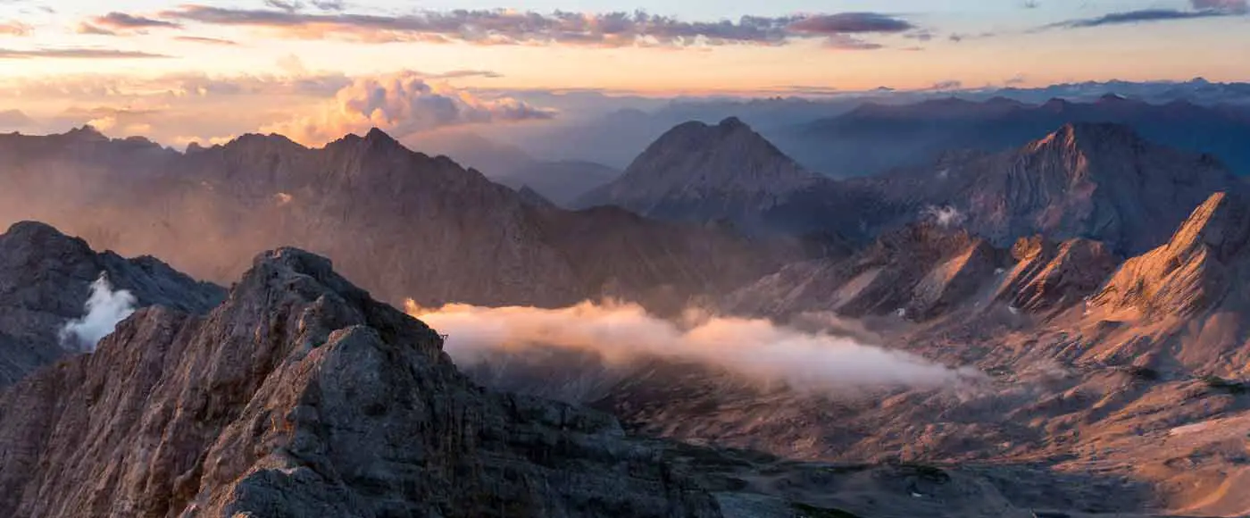
[[[316,145],[379,128],[396,136],[468,124],[551,119],[555,113],[511,98],[481,99],[428,76],[402,71],[356,79],[320,113],[272,125],[292,140]]]

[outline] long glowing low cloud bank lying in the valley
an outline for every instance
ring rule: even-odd
[[[938,388],[978,378],[924,358],[761,319],[691,314],[674,323],[635,304],[581,303],[564,309],[446,305],[406,310],[449,335],[461,367],[515,353],[558,348],[594,352],[610,364],[658,357],[722,368],[762,384],[836,392],[851,388]]]

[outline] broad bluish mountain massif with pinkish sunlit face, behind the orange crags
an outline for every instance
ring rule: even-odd
[[[948,155],[925,168],[858,179],[904,220],[932,208],[995,246],[1042,234],[1140,254],[1168,240],[1211,193],[1241,183],[1208,155],[1160,146],[1128,126],[1068,124],[1024,148]]]

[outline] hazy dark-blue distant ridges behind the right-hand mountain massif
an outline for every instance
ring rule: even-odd
[[[1069,123],[1116,123],[1155,143],[1209,153],[1232,171],[1250,174],[1250,113],[1188,101],[1148,104],[1118,95],[1092,103],[1052,99],[1024,104],[1008,98],[956,98],[909,105],[865,104],[776,135],[778,145],[809,168],[856,176],[929,161],[944,151],[1001,151],[1040,139]]]

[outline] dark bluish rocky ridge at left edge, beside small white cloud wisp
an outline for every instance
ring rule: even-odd
[[[154,258],[98,254],[45,224],[18,223],[0,234],[0,387],[70,353],[58,330],[82,317],[90,285],[101,274],[140,307],[202,313],[225,297],[221,288]]]

